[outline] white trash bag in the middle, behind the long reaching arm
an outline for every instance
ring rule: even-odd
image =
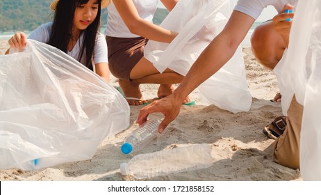
[[[179,1],[161,24],[179,35],[170,44],[149,40],[144,56],[159,72],[170,68],[186,75],[201,52],[222,31],[233,6],[233,1],[229,0]],[[204,104],[215,104],[233,112],[249,110],[252,96],[247,88],[240,47],[198,90]]]

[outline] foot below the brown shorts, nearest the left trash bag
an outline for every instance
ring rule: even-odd
[[[134,84],[131,81],[124,81],[122,79],[119,79],[118,84],[120,84],[129,105],[138,106],[144,103],[139,84]]]

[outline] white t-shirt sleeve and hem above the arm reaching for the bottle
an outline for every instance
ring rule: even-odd
[[[277,12],[281,13],[286,3],[290,3],[295,6],[297,4],[297,0],[238,0],[234,10],[245,13],[256,20],[258,16],[261,15],[263,9],[267,6],[274,6]]]

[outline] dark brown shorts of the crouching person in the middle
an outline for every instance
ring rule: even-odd
[[[111,74],[118,79],[130,81],[131,70],[144,56],[147,39],[142,37],[116,38],[106,36],[106,42]]]

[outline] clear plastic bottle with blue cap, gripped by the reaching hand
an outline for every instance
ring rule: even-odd
[[[122,145],[122,153],[127,155],[131,153],[131,151],[138,151],[146,146],[149,141],[157,137],[158,125],[160,123],[161,120],[149,119],[131,132]]]

